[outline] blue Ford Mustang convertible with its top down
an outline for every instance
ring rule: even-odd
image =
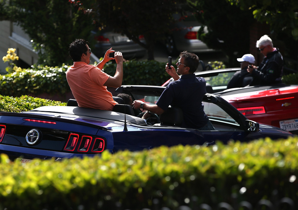
[[[164,88],[121,86],[116,92],[154,104]],[[75,100],[70,100],[67,106],[43,106],[21,113],[0,112],[0,152],[12,160],[26,162],[33,158],[60,160],[161,145],[212,145],[232,139],[246,142],[293,136],[280,128],[248,120],[219,96],[207,93],[203,104],[215,131],[180,127],[183,115],[175,107],[169,107],[160,116],[153,114],[147,123],[139,117],[141,110],[133,110],[130,105],[116,105],[114,111],[94,110],[78,107]]]

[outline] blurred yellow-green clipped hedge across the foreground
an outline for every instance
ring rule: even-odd
[[[121,203],[123,209],[142,209],[156,198],[160,207],[177,209],[192,196],[211,206],[231,203],[232,193],[254,205],[275,189],[297,202],[297,141],[159,147],[27,165],[2,154],[0,207],[116,209]]]

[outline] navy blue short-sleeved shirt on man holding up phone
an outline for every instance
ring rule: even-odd
[[[182,127],[201,128],[208,121],[202,104],[205,93],[206,81],[203,77],[185,74],[177,81],[169,83],[156,105],[163,110],[169,105],[179,107],[184,116]]]

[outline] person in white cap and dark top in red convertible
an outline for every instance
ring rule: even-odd
[[[245,54],[242,58],[237,58],[237,61],[240,62],[241,70],[235,72],[233,77],[228,82],[227,89],[234,87],[245,87],[250,84],[253,77],[250,73],[247,72],[248,65],[255,63],[255,57],[252,54]]]

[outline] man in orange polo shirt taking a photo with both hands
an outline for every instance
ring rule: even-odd
[[[66,71],[66,79],[72,94],[78,102],[79,107],[113,110],[117,104],[113,100],[109,87],[120,87],[123,78],[123,56],[121,52],[115,52],[115,58],[110,58],[109,54],[115,52],[108,49],[103,60],[94,65],[90,63],[91,49],[88,42],[77,39],[69,46],[69,54],[74,61],[74,65]],[[115,59],[117,63],[114,77],[106,74],[103,69],[106,62]]]

